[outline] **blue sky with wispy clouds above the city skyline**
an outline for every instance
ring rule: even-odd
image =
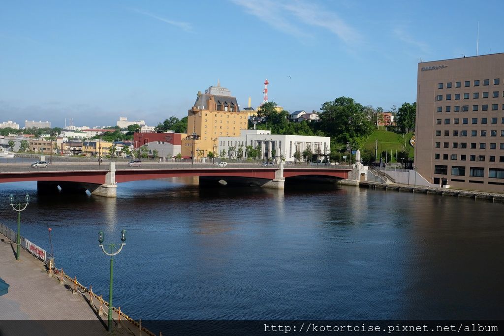
[[[418,62],[504,52],[503,12],[500,0],[5,1],[0,122],[155,126],[218,81],[257,107],[265,79],[291,112],[341,96],[387,111],[416,100]]]

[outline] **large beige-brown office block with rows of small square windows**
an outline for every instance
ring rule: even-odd
[[[427,181],[504,192],[504,53],[418,64],[415,165]]]

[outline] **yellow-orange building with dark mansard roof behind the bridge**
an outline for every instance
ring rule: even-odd
[[[248,114],[240,111],[231,92],[217,84],[198,92],[194,106],[187,111],[187,137],[182,139],[182,157],[206,157],[217,152],[218,137],[238,137],[247,129]],[[194,151],[193,151],[194,149]],[[218,154],[218,153],[217,153]]]

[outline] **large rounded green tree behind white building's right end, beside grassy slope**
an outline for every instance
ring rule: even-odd
[[[348,97],[325,102],[321,108],[321,128],[329,137],[341,143],[368,136],[373,130],[369,111]]]

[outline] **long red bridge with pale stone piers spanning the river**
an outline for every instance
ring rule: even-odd
[[[284,188],[284,182],[317,180],[335,182],[348,178],[351,167],[334,166],[281,166],[229,164],[216,168],[210,164],[153,163],[141,167],[129,167],[124,163],[65,164],[57,163],[49,168],[28,168],[20,165],[3,166],[0,183],[37,181],[40,193],[75,193],[89,190],[94,195],[115,197],[117,183],[156,178],[199,176],[200,184],[240,184],[270,188]],[[59,187],[59,188],[58,188]]]

